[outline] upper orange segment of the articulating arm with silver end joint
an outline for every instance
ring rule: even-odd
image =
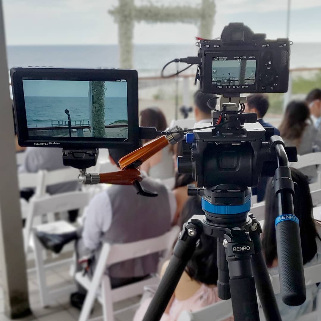
[[[168,131],[167,135],[154,139],[143,147],[127,154],[119,160],[118,164],[120,168],[124,170],[128,167],[138,167],[145,160],[148,160],[151,156],[162,150],[168,144],[174,145],[181,141],[184,138],[184,134],[178,131],[181,131],[181,129],[178,126],[175,126]]]

